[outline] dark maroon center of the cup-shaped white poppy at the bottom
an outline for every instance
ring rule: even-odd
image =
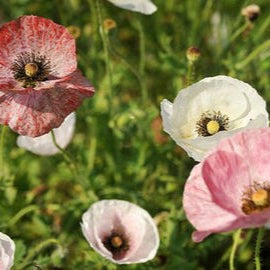
[[[110,235],[104,237],[102,243],[116,260],[122,259],[129,250],[128,239],[121,231],[113,230]]]

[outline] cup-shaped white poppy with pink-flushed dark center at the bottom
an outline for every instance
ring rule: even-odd
[[[83,214],[81,226],[90,246],[114,263],[146,262],[153,259],[159,246],[151,216],[127,201],[94,203]]]

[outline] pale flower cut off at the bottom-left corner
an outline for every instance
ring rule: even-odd
[[[15,252],[14,242],[0,232],[0,270],[9,270],[13,265]]]

